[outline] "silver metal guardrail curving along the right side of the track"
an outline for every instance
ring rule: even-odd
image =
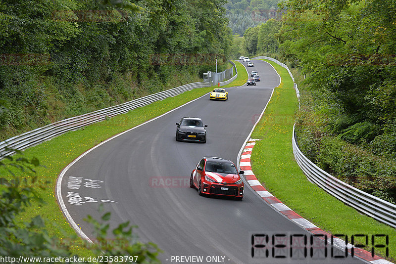
[[[294,77],[290,72],[289,68],[279,62],[278,60],[270,57],[260,56],[255,57],[255,59],[268,59],[273,61],[280,66],[286,68],[292,77],[294,82]],[[297,97],[299,98],[299,90],[297,85],[294,84]],[[368,194],[362,190],[359,190],[338,178],[331,176],[326,173],[318,166],[316,166],[312,161],[310,161],[298,148],[295,133],[296,124],[293,126],[293,153],[297,161],[298,166],[307,176],[307,178],[324,189],[327,193],[333,195],[337,199],[346,203],[347,205],[353,207],[357,211],[372,217],[380,222],[386,223],[394,228],[396,228],[396,205]]]

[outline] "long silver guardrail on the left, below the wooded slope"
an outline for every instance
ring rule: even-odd
[[[135,108],[148,105],[152,102],[163,100],[167,97],[176,96],[194,88],[210,87],[210,83],[198,82],[183,85],[177,88],[157,92],[147,95],[123,104],[107,107],[95,112],[87,113],[81,116],[68,118],[57,121],[45,127],[38,128],[20,135],[16,135],[9,139],[0,142],[0,159],[5,156],[12,155],[14,151],[9,149],[23,150],[25,148],[37,145],[55,136],[63,134],[68,131],[77,130],[81,127],[102,121],[108,117],[113,117],[119,114],[127,113]]]

